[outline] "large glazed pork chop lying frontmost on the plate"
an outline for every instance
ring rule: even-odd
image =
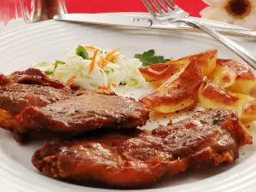
[[[32,163],[51,177],[141,188],[189,167],[232,163],[238,148],[252,143],[236,113],[218,109],[154,131],[44,143]]]

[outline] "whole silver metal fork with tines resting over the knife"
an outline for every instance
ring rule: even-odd
[[[185,23],[189,26],[201,29],[206,32],[212,38],[215,38],[221,44],[224,44],[227,48],[232,50],[236,55],[239,55],[243,61],[246,61],[253,69],[256,70],[256,56],[244,49],[240,45],[231,41],[229,38],[225,38],[223,35],[215,32],[211,27],[203,25],[200,20],[193,20],[189,18],[189,14],[183,9],[177,7],[172,0],[142,0],[148,12],[156,20],[164,21],[167,20],[171,23]],[[151,4],[151,3],[152,4]]]

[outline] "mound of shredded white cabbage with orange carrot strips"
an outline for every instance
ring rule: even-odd
[[[90,90],[96,90],[101,87],[115,90],[119,85],[137,88],[143,87],[146,84],[138,70],[139,67],[142,67],[142,62],[138,59],[128,58],[112,49],[99,49],[90,45],[84,45],[83,47],[85,52],[88,53],[89,59],[79,56],[77,48],[67,53],[66,61],[56,61],[57,65],[55,63],[42,62],[32,67],[38,68],[49,75],[49,77],[64,83],[70,83],[69,81],[72,79],[74,84]],[[83,48],[79,46],[80,52],[81,49]],[[91,73],[89,73],[92,62],[91,58],[95,54],[96,49],[99,49],[96,55],[96,63]],[[106,66],[102,64],[104,62],[107,64]]]

